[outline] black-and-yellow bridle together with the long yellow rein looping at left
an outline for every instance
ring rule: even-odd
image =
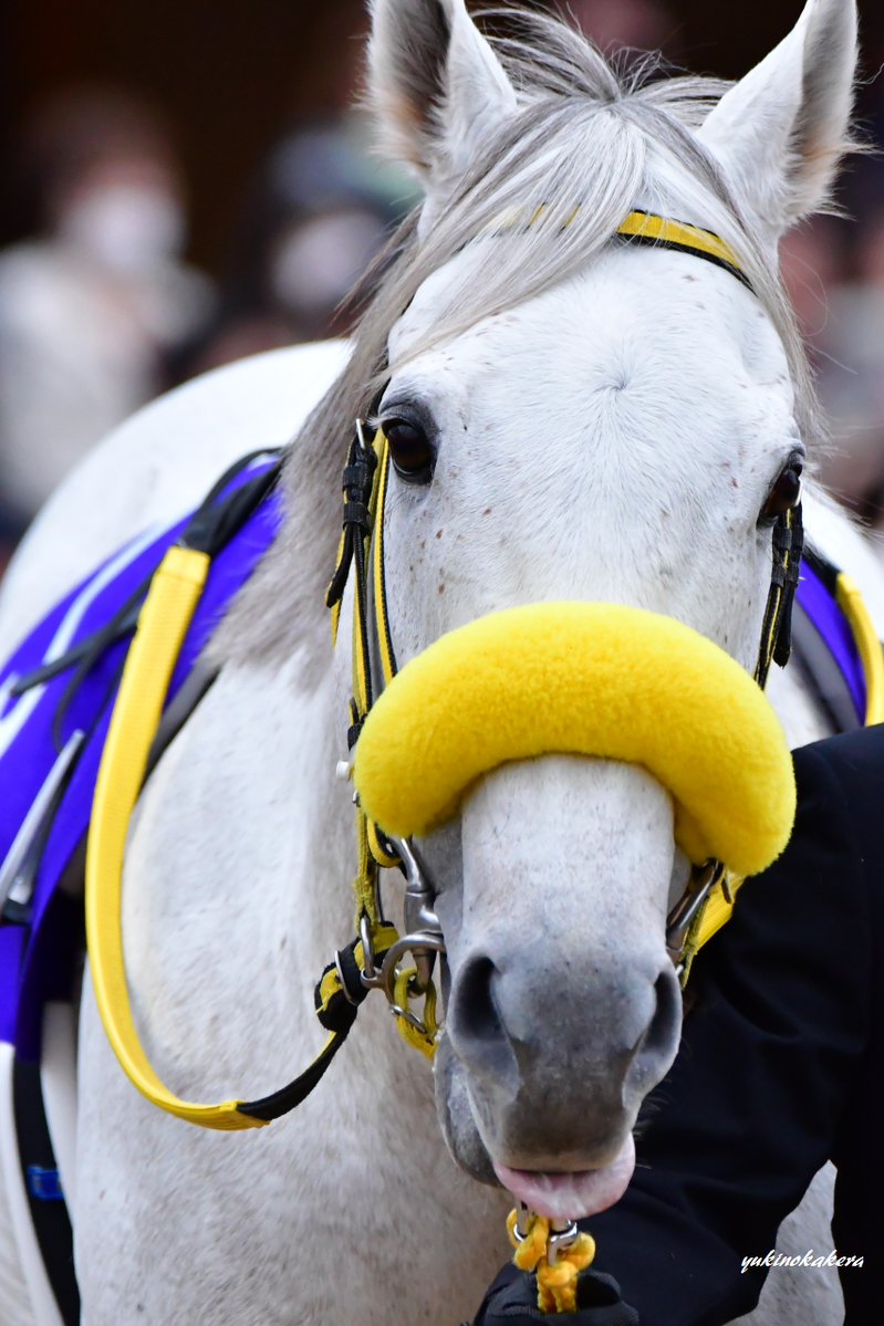
[[[572,220],[573,216],[567,224]],[[528,219],[528,224],[534,221]],[[743,285],[749,284],[735,255],[707,231],[632,212],[620,235],[626,243],[697,255],[731,272]],[[348,724],[350,757],[369,713],[385,688],[393,693],[390,683],[398,674],[384,557],[389,472],[386,438],[380,430],[372,434],[369,426],[360,420],[344,469],[342,536],[327,595],[333,614],[333,633],[337,634],[344,590],[350,572],[354,573],[353,687]],[[372,989],[386,994],[396,1025],[407,1044],[431,1058],[438,1041],[433,967],[435,955],[445,952],[445,939],[434,912],[435,887],[419,845],[409,835],[397,838],[381,833],[356,798],[356,939],[337,952],[316,985],[316,1014],[327,1032],[320,1053],[285,1086],[255,1101],[234,1098],[212,1105],[194,1103],[177,1097],[157,1075],[141,1042],[126,984],[122,867],[129,822],[149,768],[173,670],[214,556],[211,540],[207,542],[214,496],[215,489],[154,573],[126,656],[98,770],[89,830],[86,931],[98,1010],[129,1079],[147,1101],[177,1118],[200,1127],[236,1131],[261,1127],[296,1109],[311,1094],[346,1040],[357,1010]],[[771,662],[783,664],[788,659],[791,607],[800,556],[802,520],[800,505],[796,504],[774,521],[773,573],[754,672],[759,687],[765,686]],[[723,655],[723,651],[718,652]],[[730,659],[726,662],[733,664]],[[733,666],[751,691],[749,679],[737,664]],[[338,769],[342,777],[350,778],[352,758],[342,761]],[[380,891],[382,869],[400,869],[405,875],[405,935],[400,935],[385,919]],[[666,945],[682,983],[693,955],[727,920],[739,883],[741,879],[730,875],[718,861],[706,861],[692,871],[684,896],[669,915],[666,931]]]

